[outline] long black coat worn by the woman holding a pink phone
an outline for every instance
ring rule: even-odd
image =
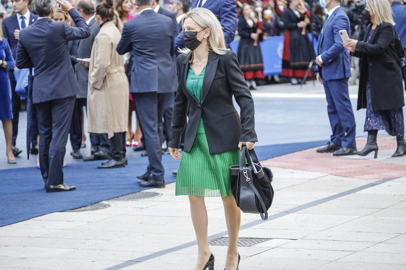
[[[364,41],[358,41],[354,56],[361,58],[361,74],[358,88],[357,110],[367,107],[367,77],[371,84],[371,104],[374,111],[391,110],[404,106],[402,71],[395,52],[394,30],[390,23],[377,26],[367,43],[369,30],[365,30]]]

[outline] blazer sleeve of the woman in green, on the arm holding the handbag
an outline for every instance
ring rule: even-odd
[[[240,70],[237,55],[233,51],[228,53],[226,62],[227,83],[233,92],[235,101],[240,106],[242,133],[240,142],[257,142],[257,133],[255,132],[254,119],[254,100],[251,96],[250,89],[245,82],[244,75]]]

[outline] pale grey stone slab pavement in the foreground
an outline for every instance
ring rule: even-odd
[[[306,151],[315,149],[289,155],[295,160]],[[358,162],[321,155],[337,168]],[[382,169],[385,164],[405,166],[406,156],[386,155],[380,164]],[[275,197],[269,220],[243,213],[240,231],[251,242],[269,240],[239,247],[240,270],[406,269],[406,176],[376,180],[309,168],[272,170]],[[187,196],[175,196],[175,184],[145,192],[159,195],[108,200],[102,202],[107,208],[56,212],[0,227],[0,269],[192,270],[197,246]],[[209,239],[226,237],[221,199],[206,198],[206,206]],[[211,250],[215,269],[223,269],[227,247],[212,245]]]

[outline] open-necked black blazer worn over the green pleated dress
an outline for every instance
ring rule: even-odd
[[[185,152],[190,152],[200,118],[203,117],[211,154],[231,151],[238,142],[257,142],[254,121],[254,101],[233,51],[225,55],[209,52],[201,104],[186,89],[190,55],[177,57],[179,86],[173,107],[169,147],[179,148],[189,109],[185,135]],[[241,118],[235,110],[233,96],[240,106]]]

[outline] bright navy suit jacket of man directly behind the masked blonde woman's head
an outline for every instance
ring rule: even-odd
[[[192,0],[192,9],[197,6],[198,2],[199,0]],[[223,27],[226,46],[230,48],[230,43],[234,40],[237,29],[237,4],[235,0],[207,0],[202,7],[212,11],[217,16]],[[175,38],[176,52],[178,48],[183,47],[183,31],[181,31]]]

